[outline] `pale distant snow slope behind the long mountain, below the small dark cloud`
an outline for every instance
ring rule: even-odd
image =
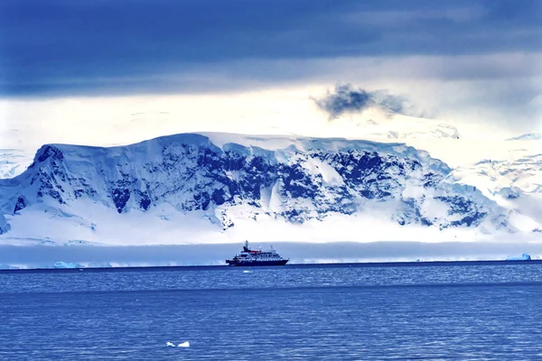
[[[307,131],[298,130],[300,134]],[[508,161],[542,153],[540,134],[510,138],[509,131],[461,120],[389,114],[374,107],[327,121],[317,136],[346,136],[379,143],[406,143],[452,168],[484,159]]]

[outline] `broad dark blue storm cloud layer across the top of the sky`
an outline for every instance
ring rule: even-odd
[[[174,92],[311,76],[266,69],[268,60],[540,51],[541,9],[536,0],[4,0],[0,95]],[[262,65],[248,73],[224,65],[242,60]],[[216,69],[224,79],[199,81]]]

